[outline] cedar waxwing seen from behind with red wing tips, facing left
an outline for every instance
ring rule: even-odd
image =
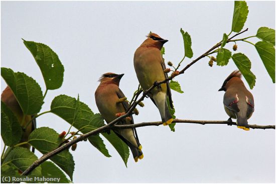
[[[223,104],[225,112],[230,116],[229,120],[237,119],[238,128],[249,130],[247,119],[254,112],[254,99],[240,78],[240,71],[233,71],[218,91],[225,91]]]

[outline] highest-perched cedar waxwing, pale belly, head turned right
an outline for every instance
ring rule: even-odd
[[[150,33],[147,37],[142,45],[136,49],[133,59],[135,72],[143,90],[149,89],[155,81],[163,81],[168,78],[168,74],[164,73],[166,65],[160,52],[168,40],[162,39],[155,33]],[[149,97],[160,112],[163,125],[168,125],[173,121],[167,104],[167,95],[170,106],[173,108],[169,81],[157,86],[149,93]]]

